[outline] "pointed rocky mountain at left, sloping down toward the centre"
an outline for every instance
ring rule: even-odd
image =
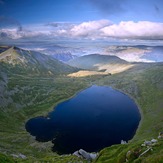
[[[17,47],[0,47],[0,68],[10,73],[29,75],[60,75],[77,71],[52,56]]]

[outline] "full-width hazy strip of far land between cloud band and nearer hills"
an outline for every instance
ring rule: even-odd
[[[87,41],[87,42],[69,42],[69,41],[30,41],[30,42],[12,42],[2,43],[1,45],[14,45],[22,49],[37,51],[46,55],[52,55],[54,58],[67,62],[75,57],[89,54],[113,55],[128,62],[163,62],[163,46],[161,42],[156,44],[142,45],[136,44],[111,43],[106,41]]]

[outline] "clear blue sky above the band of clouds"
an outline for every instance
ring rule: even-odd
[[[83,22],[163,20],[162,0],[0,0],[0,16],[22,24],[54,21]]]

